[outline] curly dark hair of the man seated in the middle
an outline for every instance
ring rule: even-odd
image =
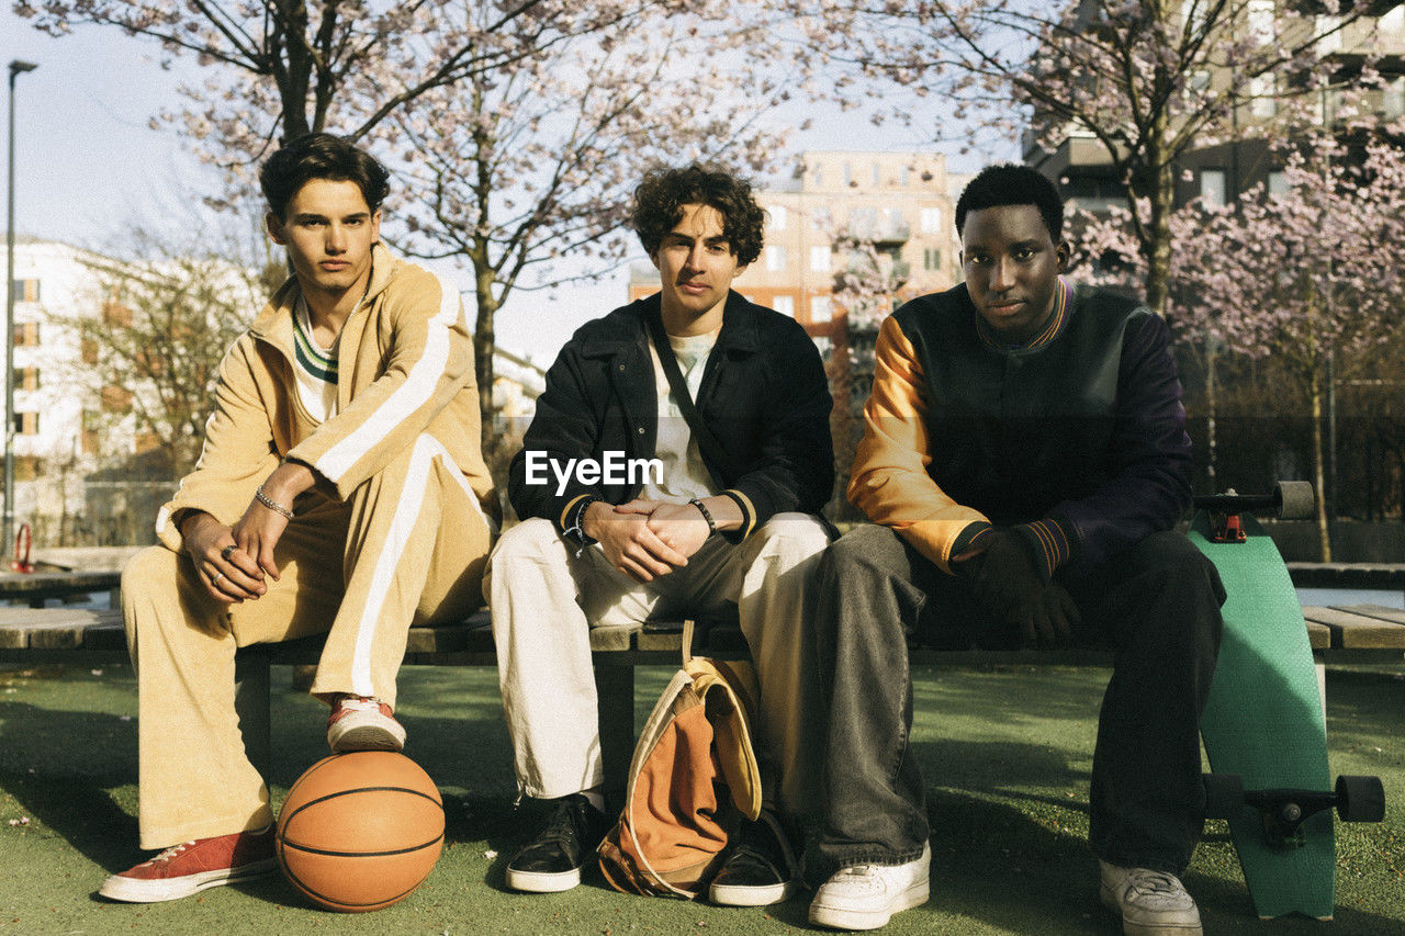
[[[752,186],[731,173],[694,163],[655,170],[634,190],[629,225],[651,257],[683,219],[683,205],[710,205],[722,215],[722,236],[738,264],[746,266],[762,256],[766,212],[756,204]]]

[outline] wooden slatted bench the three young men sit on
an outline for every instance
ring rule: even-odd
[[[53,597],[51,583],[51,593]],[[1394,590],[1394,580],[1390,585]],[[100,590],[87,589],[84,590]],[[22,592],[32,599],[41,587]],[[0,596],[4,586],[0,583]],[[1380,604],[1352,607],[1304,607],[1308,639],[1319,662],[1402,662],[1405,661],[1405,611]],[[676,668],[681,639],[674,630],[651,627],[597,628],[590,634],[596,686],[600,697],[600,745],[606,762],[606,786],[613,794],[624,788],[634,750],[635,666]],[[236,659],[236,704],[250,760],[267,776],[270,738],[270,668],[318,662],[320,641],[308,638],[287,644],[247,646]],[[707,646],[698,655],[746,658],[746,642],[735,625],[719,624],[708,631]],[[0,665],[66,663],[89,666],[125,662],[126,639],[119,610],[74,607],[0,607]],[[496,666],[492,630],[486,611],[450,627],[410,630],[406,666]],[[1110,665],[1111,654],[1097,649],[1069,651],[939,651],[915,648],[915,666],[932,665]]]

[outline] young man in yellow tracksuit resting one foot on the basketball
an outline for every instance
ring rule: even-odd
[[[333,750],[405,743],[406,631],[482,603],[496,527],[458,291],[379,245],[386,171],[326,134],[260,173],[294,275],[225,356],[200,462],[122,575],[142,846],[103,884],[164,901],[274,869],[235,651],[325,632]]]

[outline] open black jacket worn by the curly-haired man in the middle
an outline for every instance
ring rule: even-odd
[[[561,493],[549,474],[547,483],[530,485],[527,457],[544,453],[561,465],[603,461],[606,453],[653,457],[659,389],[645,316],[658,316],[659,304],[656,294],[587,322],[547,371],[537,415],[509,468],[507,495],[518,517],[547,517],[565,531],[583,498],[624,503],[639,495],[639,481],[587,485],[575,474]],[[729,292],[695,405],[729,462],[704,451],[708,471],[747,514],[740,537],[773,514],[819,513],[829,502],[829,382],[815,343],[794,319]]]

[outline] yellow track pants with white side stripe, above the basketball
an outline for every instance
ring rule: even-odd
[[[190,557],[164,547],[122,571],[139,694],[142,847],[259,829],[268,790],[235,715],[235,649],[326,632],[313,694],[378,696],[412,623],[482,603],[490,524],[444,447],[420,436],[346,502],[303,507],[274,551],[280,579],[257,600],[215,602]]]

